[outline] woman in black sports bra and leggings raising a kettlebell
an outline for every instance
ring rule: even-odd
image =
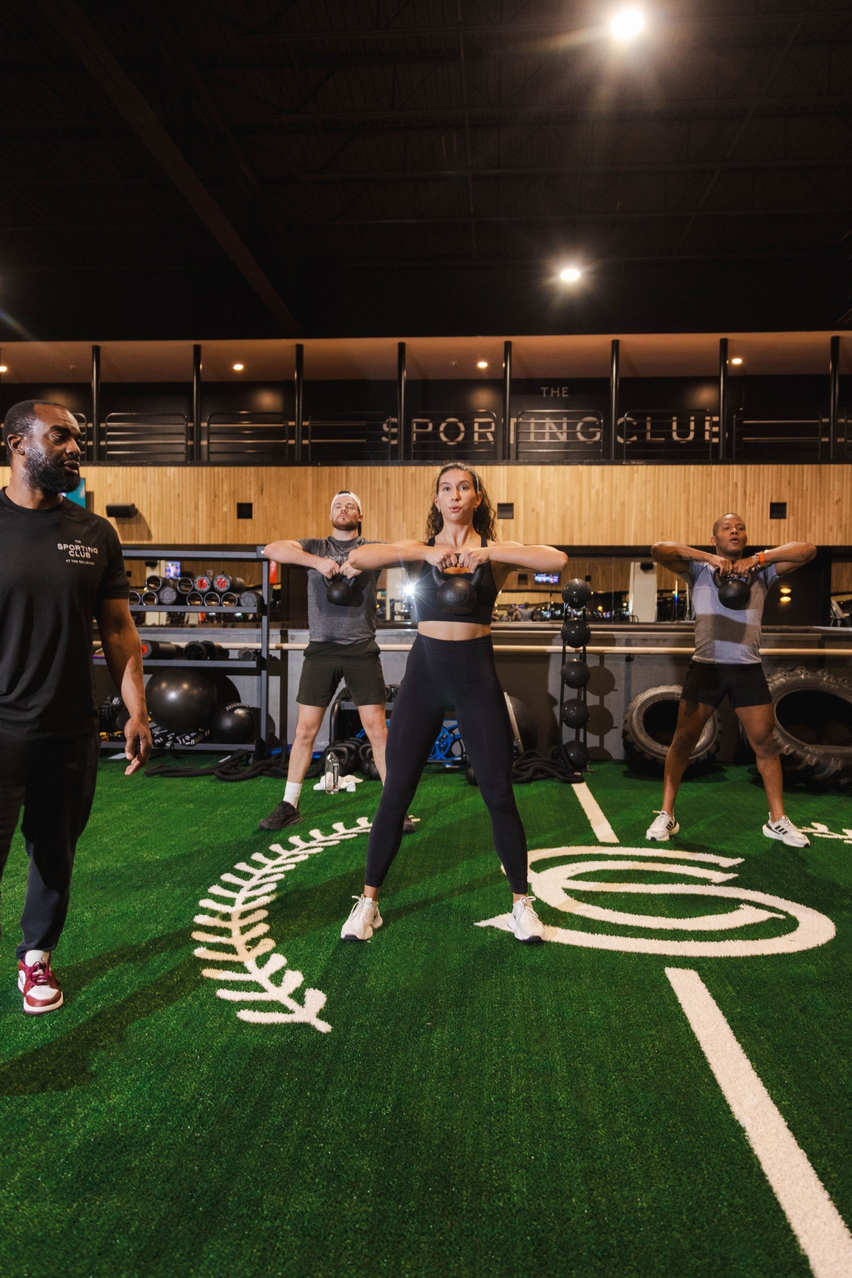
[[[381,928],[378,889],[402,838],[402,822],[441,730],[447,705],[488,808],[494,846],[512,888],[512,930],[519,941],[542,941],[542,924],[528,896],[526,836],[512,791],[512,728],[494,668],[491,621],[497,594],[513,567],[561,573],[567,555],[552,546],[494,541],[494,511],[479,475],[451,464],[436,481],[427,520],[428,541],[372,543],[349,556],[353,567],[405,566],[414,583],[418,635],[409,653],[387,739],[387,777],[370,831],[364,893],[342,927],[341,939],[369,941]],[[447,611],[441,587],[459,575],[475,588],[475,603]]]

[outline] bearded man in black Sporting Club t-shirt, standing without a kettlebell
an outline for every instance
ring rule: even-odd
[[[128,774],[148,758],[151,732],[119,538],[63,496],[79,483],[79,426],[61,404],[24,400],[6,413],[3,438],[11,477],[0,491],[0,875],[23,808],[18,988],[24,1012],[38,1015],[63,1002],[51,956],[95,796],[93,616],[130,713]]]

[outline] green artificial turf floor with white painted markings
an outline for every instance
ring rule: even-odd
[[[646,846],[659,782],[621,763],[588,781],[620,842]],[[738,886],[826,914],[832,942],[694,960],[526,947],[474,925],[505,912],[510,892],[479,792],[464,774],[432,773],[369,944],[339,942],[364,835],[293,864],[263,907],[271,952],[304,976],[293,997],[326,996],[321,1033],[239,1019],[284,1005],[217,997],[236,984],[203,976],[211,962],[194,955],[192,933],[216,932],[193,921],[211,912],[198,902],[213,884],[229,889],[222,874],[245,877],[238,863],[275,858],[271,843],[289,835],[370,818],[379,787],[332,799],[308,785],[300,827],[257,833],[280,791],[268,780],[125,778],[105,762],[55,956],[66,1006],[37,1019],[22,1015],[14,980],[26,878],[15,841],[0,941],[4,1275],[810,1273],[664,967],[700,973],[852,1220],[852,841],[766,841],[754,769],[717,769],[685,785],[677,846],[743,858]],[[572,787],[516,794],[531,849],[597,849]],[[788,812],[839,836],[852,826],[843,795],[797,792]],[[723,907],[625,900],[595,893],[620,910]],[[613,930],[548,905],[540,914]]]

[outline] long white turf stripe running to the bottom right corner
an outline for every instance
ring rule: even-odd
[[[710,990],[688,967],[667,967],[666,975],[814,1274],[849,1278],[852,1235]]]

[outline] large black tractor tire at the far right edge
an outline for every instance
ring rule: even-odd
[[[768,682],[775,741],[791,780],[849,785],[852,680],[798,666],[770,675]]]

